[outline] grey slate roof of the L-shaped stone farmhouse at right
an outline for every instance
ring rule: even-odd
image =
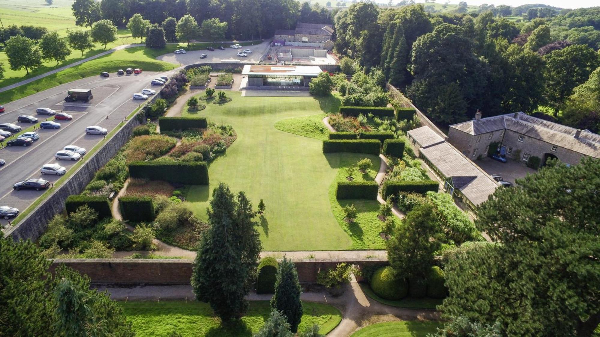
[[[508,113],[450,125],[451,128],[477,136],[498,130],[511,130],[580,154],[600,158],[600,135],[529,116],[523,112]]]

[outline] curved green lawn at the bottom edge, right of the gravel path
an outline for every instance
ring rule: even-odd
[[[366,326],[352,337],[425,337],[435,333],[442,324],[431,321],[397,321]]]

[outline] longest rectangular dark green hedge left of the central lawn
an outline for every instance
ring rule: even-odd
[[[129,164],[129,176],[186,185],[208,185],[208,166],[205,161],[136,161]]]

